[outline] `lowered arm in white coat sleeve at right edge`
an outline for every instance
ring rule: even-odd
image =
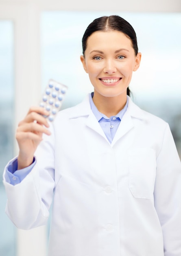
[[[181,162],[169,126],[157,157],[155,209],[164,238],[164,256],[181,255]]]

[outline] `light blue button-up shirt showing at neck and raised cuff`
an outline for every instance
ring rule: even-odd
[[[124,106],[124,108],[117,115],[111,116],[109,118],[98,111],[92,99],[93,96],[94,96],[94,92],[89,94],[89,101],[90,101],[92,112],[94,113],[102,130],[104,131],[108,141],[111,143],[116,134],[120,121],[127,110],[128,99],[126,101],[126,105]],[[6,181],[12,185],[20,183],[26,177],[26,175],[28,175],[28,173],[31,172],[35,163],[36,163],[36,159],[34,158],[33,163],[30,166],[21,170],[17,170],[17,158],[13,159],[6,169],[6,173],[5,173]]]

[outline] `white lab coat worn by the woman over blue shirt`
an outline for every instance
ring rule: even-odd
[[[59,112],[31,173],[4,180],[20,229],[44,225],[50,256],[181,256],[181,162],[168,124],[129,98],[110,144],[88,97]]]

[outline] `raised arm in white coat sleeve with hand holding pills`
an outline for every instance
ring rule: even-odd
[[[18,141],[21,152],[20,155],[25,156],[25,161],[21,161],[21,164],[24,165],[24,167],[29,165],[29,163],[27,164],[26,162],[26,159],[28,159],[26,155],[28,156],[28,153],[30,153],[30,155],[33,154],[33,151],[36,150],[36,148],[37,150],[35,155],[37,156],[37,163],[32,168],[31,172],[28,173],[28,175],[24,177],[19,184],[16,184],[15,186],[9,184],[9,182],[6,181],[5,176],[3,181],[8,198],[6,213],[13,223],[20,229],[30,229],[46,223],[49,216],[48,210],[52,202],[53,189],[55,186],[53,152],[54,136],[48,136],[48,134],[50,134],[48,131],[48,134],[44,135],[44,140],[42,141],[42,135],[44,133],[43,130],[46,128],[39,123],[41,121],[40,119],[44,119],[44,117],[39,114],[37,115],[38,117],[35,117],[36,120],[38,119],[36,123],[34,123],[32,119],[31,122],[33,122],[33,124],[28,125],[27,122],[25,122],[22,124],[24,128],[21,127],[21,130],[19,129],[20,127],[18,128],[18,132],[22,133],[22,137]],[[37,126],[41,126],[43,128],[37,128],[42,132],[37,132]],[[28,127],[30,127],[33,132],[28,130]],[[22,131],[23,129],[24,131]],[[24,133],[26,133],[27,130],[28,135],[25,135]],[[34,138],[34,135],[31,135],[30,133],[34,132],[35,140],[33,141],[32,138]],[[25,142],[26,140],[27,143]],[[22,159],[23,157],[21,160]]]

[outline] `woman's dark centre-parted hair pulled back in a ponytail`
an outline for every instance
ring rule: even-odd
[[[90,25],[85,30],[82,38],[83,55],[87,47],[87,39],[89,38],[89,36],[91,36],[92,33],[96,31],[107,30],[117,30],[124,33],[131,40],[135,55],[137,55],[138,47],[136,33],[133,27],[129,24],[129,22],[127,22],[118,15],[102,16],[93,20],[93,22],[90,23]],[[130,95],[129,88],[127,88],[127,95]]]

